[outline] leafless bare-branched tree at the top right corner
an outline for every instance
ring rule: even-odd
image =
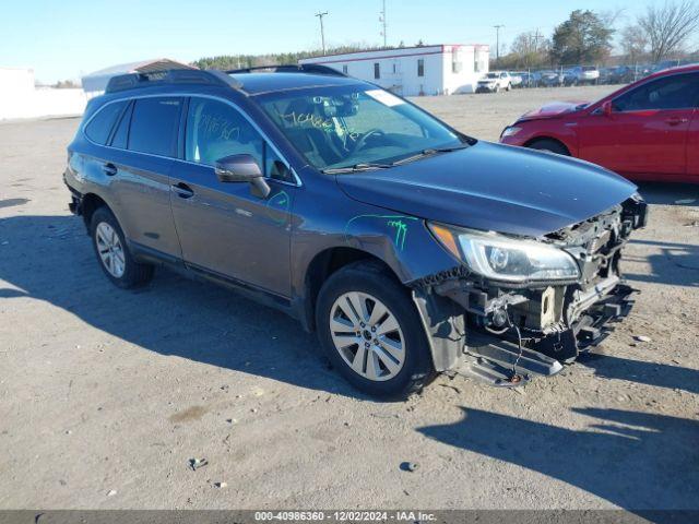
[[[694,0],[668,0],[649,5],[638,17],[645,33],[653,61],[660,62],[679,50],[687,38],[699,28],[699,5]]]

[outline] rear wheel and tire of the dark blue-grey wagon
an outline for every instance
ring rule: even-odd
[[[121,226],[109,209],[99,207],[93,213],[90,236],[99,267],[115,286],[131,289],[153,278],[153,266],[133,259]]]

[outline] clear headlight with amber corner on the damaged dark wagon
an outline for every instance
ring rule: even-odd
[[[428,224],[439,242],[474,273],[512,283],[570,281],[580,276],[573,258],[536,240]]]

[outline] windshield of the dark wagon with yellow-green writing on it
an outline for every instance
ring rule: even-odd
[[[382,90],[322,87],[265,95],[260,105],[313,167],[390,165],[464,141],[429,115]]]

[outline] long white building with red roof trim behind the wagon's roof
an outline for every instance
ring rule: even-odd
[[[473,93],[488,72],[484,45],[437,45],[327,55],[299,60],[336,69],[402,96]]]

